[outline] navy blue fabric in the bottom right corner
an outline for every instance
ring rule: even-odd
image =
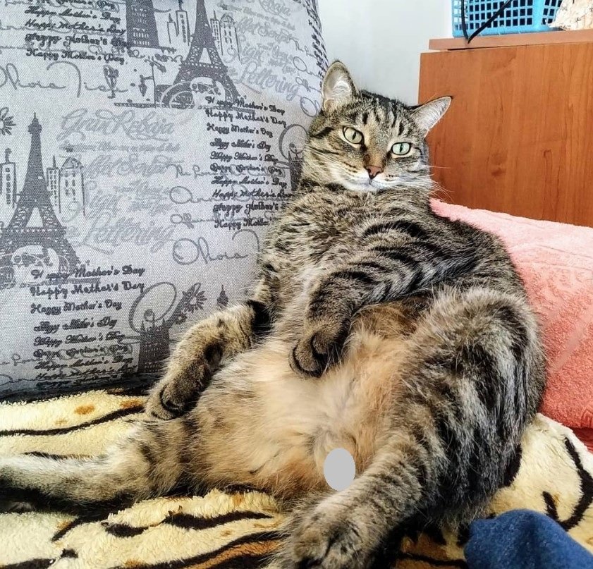
[[[593,569],[593,555],[554,520],[514,510],[470,527],[470,569]]]

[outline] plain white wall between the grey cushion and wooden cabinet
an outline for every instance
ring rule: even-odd
[[[451,36],[451,0],[317,0],[329,61],[360,87],[416,103],[420,53]]]

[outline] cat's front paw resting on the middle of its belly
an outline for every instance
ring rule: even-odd
[[[339,359],[346,336],[343,322],[320,322],[308,327],[291,353],[293,371],[320,377]]]

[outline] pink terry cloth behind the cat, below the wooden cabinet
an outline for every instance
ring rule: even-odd
[[[504,240],[544,328],[549,380],[542,412],[593,429],[593,228],[437,201],[433,209]]]

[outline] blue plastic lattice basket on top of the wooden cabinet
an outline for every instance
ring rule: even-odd
[[[505,0],[465,0],[465,25],[467,35],[472,35],[488,18],[496,13]],[[504,13],[496,18],[479,35],[522,34],[546,32],[560,8],[562,0],[513,0]],[[451,0],[453,11],[453,36],[463,37],[461,0]]]

